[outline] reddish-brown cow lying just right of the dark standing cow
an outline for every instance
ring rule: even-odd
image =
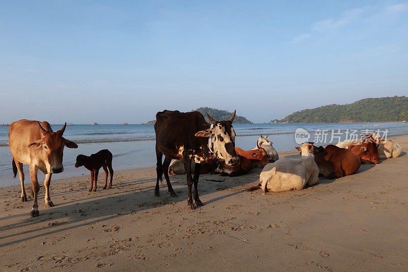
[[[237,177],[246,174],[253,167],[264,167],[268,163],[274,161],[274,157],[269,156],[262,147],[258,150],[248,151],[235,147],[235,151],[239,157],[239,164],[236,166],[228,166],[225,164],[225,162],[220,162],[215,171],[220,172],[221,175]]]

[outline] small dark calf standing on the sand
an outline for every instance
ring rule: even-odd
[[[95,154],[92,154],[91,156],[85,156],[85,155],[78,155],[77,156],[77,162],[75,163],[75,167],[81,167],[85,166],[89,171],[91,171],[91,188],[89,191],[92,191],[92,186],[93,182],[95,181],[95,188],[93,191],[96,191],[96,181],[98,180],[98,172],[100,167],[104,168],[105,171],[105,186],[104,189],[106,189],[106,186],[108,184],[108,169],[111,174],[111,182],[109,183],[109,189],[112,188],[112,179],[113,179],[113,169],[112,169],[112,153],[107,150],[101,150],[98,151]]]

